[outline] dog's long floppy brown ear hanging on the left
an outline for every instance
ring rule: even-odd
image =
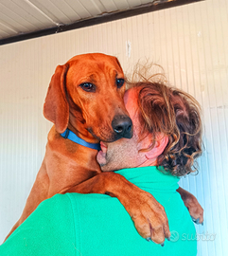
[[[69,121],[69,104],[66,99],[66,73],[68,64],[58,65],[51,78],[44,102],[44,118],[52,121],[58,133],[63,133]]]

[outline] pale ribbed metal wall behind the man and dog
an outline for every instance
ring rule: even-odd
[[[126,72],[147,57],[203,109],[200,173],[183,178],[203,209],[198,255],[228,255],[228,3],[207,0],[0,46],[0,241],[19,218],[51,124],[43,103],[57,64],[85,52],[119,58]],[[178,214],[178,212],[177,212]]]

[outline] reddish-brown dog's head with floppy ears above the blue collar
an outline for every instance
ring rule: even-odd
[[[59,133],[67,127],[82,136],[112,142],[132,137],[132,120],[125,109],[123,70],[113,56],[75,56],[59,65],[44,103],[44,117]]]

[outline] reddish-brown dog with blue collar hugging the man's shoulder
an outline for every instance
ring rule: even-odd
[[[44,117],[55,125],[48,134],[44,161],[25,210],[9,235],[44,199],[56,193],[98,192],[116,196],[143,237],[156,243],[169,237],[166,212],[152,195],[119,174],[101,173],[96,162],[93,147],[99,140],[132,137],[124,92],[124,74],[112,56],[79,55],[56,68],[44,103]],[[66,139],[66,129],[90,144],[83,146]]]

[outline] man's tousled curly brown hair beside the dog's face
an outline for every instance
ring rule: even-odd
[[[161,74],[160,74],[161,76]],[[167,147],[157,166],[167,173],[183,176],[197,171],[195,159],[202,154],[202,119],[198,101],[184,91],[166,85],[165,80],[132,82],[138,89],[140,138],[151,134],[168,137]]]

